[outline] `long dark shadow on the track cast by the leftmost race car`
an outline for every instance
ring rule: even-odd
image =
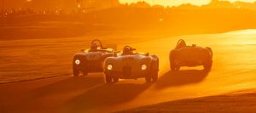
[[[20,112],[60,112],[63,101],[73,99],[75,94],[83,93],[104,83],[101,74],[59,79],[57,82],[53,81],[26,93],[20,93],[20,95],[26,94],[26,98],[22,99],[26,104],[17,105],[15,108],[21,108]]]

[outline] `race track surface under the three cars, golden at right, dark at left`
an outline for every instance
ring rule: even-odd
[[[157,54],[160,57],[160,76],[155,83],[145,83],[144,79],[138,79],[137,81],[121,80],[117,83],[106,84],[102,73],[74,78],[70,65],[66,66],[71,64],[70,62],[64,63],[65,66],[63,64],[52,66],[54,69],[58,67],[57,69],[61,70],[63,75],[42,80],[1,84],[0,112],[110,112],[177,99],[193,99],[256,88],[255,36],[255,30],[246,30],[221,34],[165,37],[130,43],[129,45],[137,48],[137,51]],[[201,66],[182,68],[179,72],[170,71],[168,55],[180,38],[188,44],[195,43],[202,47],[212,48],[212,71],[209,73],[202,71]],[[68,43],[70,40],[62,42]],[[75,48],[74,45],[73,48]],[[126,44],[118,44],[118,48],[121,49],[124,45]],[[44,46],[47,46],[47,42]],[[59,51],[63,54],[63,58],[60,57],[60,59],[64,61],[72,59],[73,48],[68,48],[70,50],[68,52]],[[18,48],[9,50],[19,51]],[[42,53],[47,53],[44,49],[40,50]],[[70,55],[65,56],[64,53]],[[40,59],[41,64],[46,63],[44,57],[37,59]],[[6,60],[1,61],[6,62]],[[11,66],[5,65],[4,67],[14,68]],[[3,72],[9,70],[2,69],[2,74],[11,75],[11,72]],[[40,67],[40,70],[42,74],[45,74],[44,72],[51,68],[44,66]],[[50,74],[49,76],[54,76]]]

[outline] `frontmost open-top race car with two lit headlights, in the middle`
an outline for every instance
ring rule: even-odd
[[[108,57],[104,62],[106,82],[118,82],[119,79],[137,79],[145,77],[146,82],[155,82],[158,78],[159,58],[135,52],[135,48],[125,46],[122,54]]]

